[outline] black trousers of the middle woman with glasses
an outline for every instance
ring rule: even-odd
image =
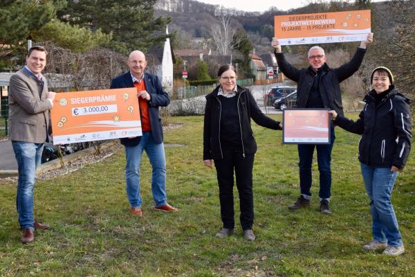
[[[255,154],[246,155],[240,150],[223,152],[223,159],[214,160],[219,183],[219,201],[223,228],[234,229],[234,172],[239,193],[239,220],[243,230],[252,229],[254,222],[254,197],[252,194],[252,167]]]

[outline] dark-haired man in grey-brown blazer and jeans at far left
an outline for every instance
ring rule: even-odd
[[[35,229],[49,228],[33,218],[36,168],[42,158],[44,143],[49,141],[49,110],[55,98],[55,92],[48,91],[48,82],[42,75],[46,54],[42,46],[33,46],[24,69],[10,78],[10,140],[19,171],[16,207],[23,243],[33,242]]]

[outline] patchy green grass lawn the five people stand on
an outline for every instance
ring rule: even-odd
[[[356,118],[356,114],[349,114]],[[279,118],[275,116],[275,118]],[[203,117],[171,118],[183,127],[165,133],[167,196],[178,213],[154,211],[151,167],[141,167],[144,217],[129,214],[124,153],[77,172],[37,182],[35,216],[48,231],[20,242],[15,184],[0,185],[0,276],[415,276],[415,159],[394,189],[393,203],[406,253],[365,253],[371,240],[369,199],[358,163],[359,136],[336,128],[332,215],[319,212],[318,186],[310,208],[286,208],[299,195],[296,145],[281,131],[253,124],[255,242],[221,229],[216,171],[202,162]],[[317,163],[313,184],[318,184]],[[235,196],[236,188],[235,188]]]

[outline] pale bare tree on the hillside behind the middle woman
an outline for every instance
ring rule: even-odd
[[[211,28],[212,48],[219,55],[230,55],[232,49],[239,44],[239,39],[235,39],[237,28],[229,15],[221,15],[219,23],[214,24]]]

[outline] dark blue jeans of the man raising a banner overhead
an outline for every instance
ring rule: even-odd
[[[317,148],[317,164],[320,172],[320,199],[330,199],[331,196],[331,150],[335,140],[334,128],[331,127],[330,144],[299,144],[299,187],[306,199],[311,199],[311,165],[313,163],[314,148]]]

